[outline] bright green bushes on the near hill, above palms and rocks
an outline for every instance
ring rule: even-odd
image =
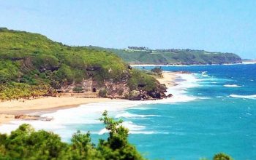
[[[85,47],[69,47],[37,33],[0,29],[1,81],[24,79],[29,84],[80,81],[87,72],[97,67],[102,79],[120,79],[127,66],[116,55]],[[115,62],[115,63],[113,63]],[[109,68],[113,72],[109,73]],[[31,77],[32,74],[34,77]],[[29,78],[26,79],[29,75]],[[37,77],[39,76],[39,77]]]

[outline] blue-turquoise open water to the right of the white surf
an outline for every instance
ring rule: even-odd
[[[196,73],[200,86],[187,89],[187,95],[205,99],[128,110],[129,113],[159,115],[133,120],[148,130],[162,132],[130,135],[131,142],[140,151],[147,153],[149,159],[211,158],[220,151],[234,159],[256,159],[256,65],[162,69]]]

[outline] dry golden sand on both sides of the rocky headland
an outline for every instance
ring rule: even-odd
[[[175,84],[176,73],[163,72],[162,78],[157,79],[166,87]],[[0,125],[15,119],[15,115],[39,115],[40,112],[53,112],[64,108],[73,108],[81,104],[104,103],[120,101],[109,98],[83,98],[83,97],[41,97],[32,100],[9,100],[0,102]]]

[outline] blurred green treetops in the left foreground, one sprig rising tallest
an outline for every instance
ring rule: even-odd
[[[121,120],[108,117],[106,111],[101,120],[109,137],[99,140],[98,146],[91,143],[89,132],[78,131],[71,143],[64,143],[53,132],[22,124],[10,135],[0,134],[0,159],[143,159],[128,142],[128,129],[121,126]]]

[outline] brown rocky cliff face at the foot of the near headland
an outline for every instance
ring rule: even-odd
[[[127,85],[127,81],[104,81],[103,84],[98,84],[93,79],[83,79],[80,83],[63,85],[59,89],[62,95],[71,95],[75,97],[108,97],[121,98],[129,100],[157,100],[171,95],[165,95],[167,87],[165,84],[158,82],[157,88],[152,91],[145,91],[143,88],[131,90]],[[104,92],[101,95],[99,92]]]

